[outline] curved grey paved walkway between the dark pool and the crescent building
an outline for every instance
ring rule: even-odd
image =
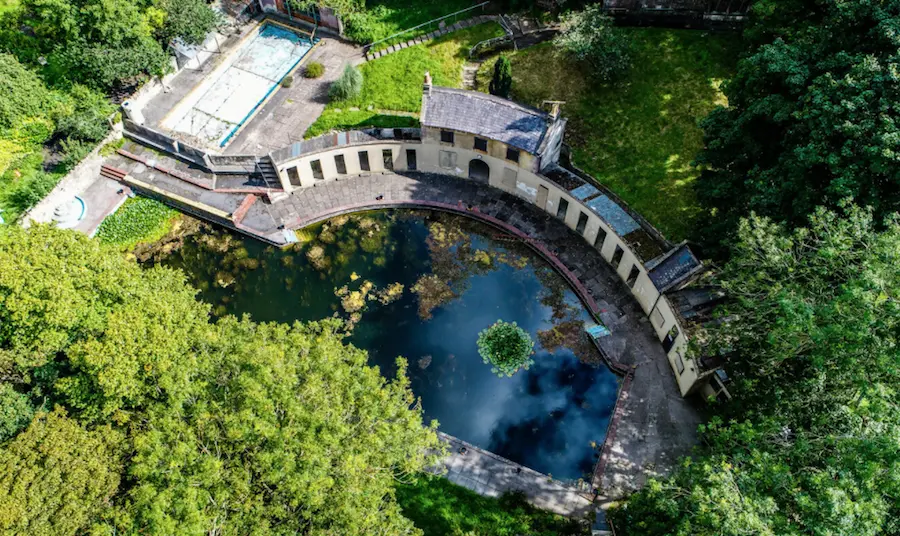
[[[513,195],[445,175],[373,173],[324,182],[272,204],[245,204],[246,194],[212,192],[121,156],[111,165],[158,191],[210,206],[219,216],[208,219],[271,243],[285,242],[281,228],[296,229],[348,212],[404,206],[461,212],[496,221],[509,229],[507,233],[532,237],[536,240],[531,243],[558,263],[589,309],[609,328],[611,334],[598,341],[605,354],[620,367],[634,370],[627,397],[619,401],[615,433],[607,437],[594,487],[605,497],[620,497],[642,486],[648,477],[667,472],[697,443],[698,402],[681,397],[662,346],[629,289],[574,231]],[[244,209],[235,218],[239,207]]]

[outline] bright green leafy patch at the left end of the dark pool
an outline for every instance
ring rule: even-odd
[[[97,239],[123,251],[138,244],[156,242],[171,230],[178,211],[159,201],[133,197],[108,216],[97,229]]]

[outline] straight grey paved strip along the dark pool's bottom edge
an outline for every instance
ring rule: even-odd
[[[441,468],[451,482],[487,497],[522,491],[538,508],[568,517],[583,518],[594,510],[588,494],[459,438],[438,435],[447,443],[449,455]]]

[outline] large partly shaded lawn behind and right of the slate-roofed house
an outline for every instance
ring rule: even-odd
[[[632,68],[597,84],[552,44],[508,55],[513,98],[563,100],[575,164],[619,194],[671,240],[692,236],[701,210],[691,165],[703,144],[698,121],[719,104],[738,38],[696,30],[632,28]],[[493,62],[478,73],[487,90]]]

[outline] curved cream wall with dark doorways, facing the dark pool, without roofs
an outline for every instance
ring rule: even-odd
[[[615,232],[612,225],[584,202],[547,176],[536,172],[538,165],[533,155],[522,151],[518,163],[507,160],[507,146],[497,140],[488,140],[486,151],[476,150],[475,136],[465,132],[454,131],[453,143],[441,142],[440,130],[435,129],[423,129],[421,139],[413,139],[415,136],[409,135],[412,134],[409,129],[393,134],[400,139],[356,144],[348,141],[346,133],[333,134],[329,136],[340,138],[337,140],[338,146],[299,156],[292,156],[296,153],[292,147],[287,147],[271,156],[287,192],[315,187],[322,181],[391,170],[421,171],[457,177],[448,177],[447,180],[466,180],[472,162],[483,162],[489,169],[490,186],[559,217],[570,229],[581,234],[585,241],[598,249],[602,257],[615,268],[650,318],[660,342],[670,346],[666,353],[683,396],[696,392],[707,384],[712,371],[701,371],[695,360],[685,359],[688,339],[681,320],[666,295],[650,279],[645,261]],[[367,156],[368,169],[364,169],[361,154]],[[414,167],[410,166],[413,159]],[[566,205],[567,208],[561,209],[561,205]],[[579,220],[582,220],[582,225],[579,225]],[[602,241],[598,241],[598,237],[602,237]],[[613,263],[614,257],[617,257],[616,264]]]

